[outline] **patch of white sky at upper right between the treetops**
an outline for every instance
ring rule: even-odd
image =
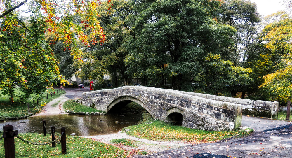
[[[272,13],[276,13],[277,11],[286,9],[285,6],[282,6],[283,1],[281,0],[250,0],[250,1],[257,4],[258,12],[260,13],[260,15],[263,15],[264,17]]]

